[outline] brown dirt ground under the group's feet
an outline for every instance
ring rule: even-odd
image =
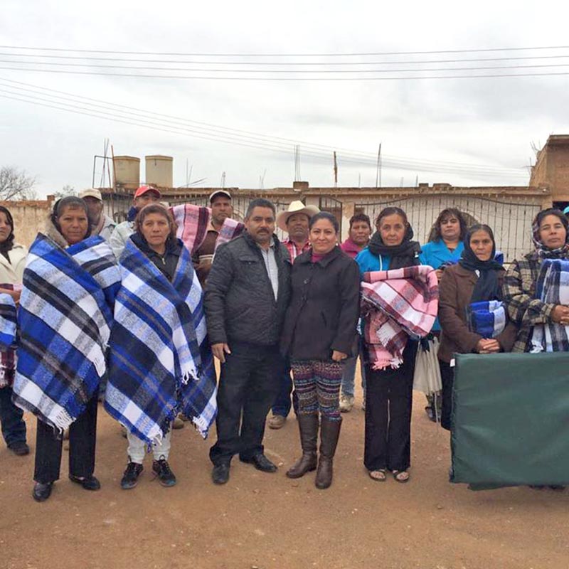
[[[448,482],[448,434],[427,420],[415,393],[408,484],[373,482],[363,469],[363,411],[344,414],[334,484],[314,473],[292,481],[297,424],[267,429],[277,474],[238,459],[225,486],[211,483],[206,442],[175,431],[170,464],[178,484],[152,480],[151,460],[137,488],[121,490],[126,441],[102,408],[97,468],[102,489],[87,492],[63,477],[51,498],[31,498],[32,454],[0,450],[0,569],[567,569],[569,489],[474,492]]]

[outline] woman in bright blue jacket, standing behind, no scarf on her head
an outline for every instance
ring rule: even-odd
[[[462,212],[457,208],[446,208],[442,210],[432,226],[429,241],[422,245],[419,259],[421,265],[430,265],[437,271],[437,279],[441,280],[443,271],[447,266],[455,265],[464,250],[464,236],[467,233],[467,222]],[[432,326],[432,339],[429,340],[425,349],[436,354],[439,349],[440,324],[435,321]],[[421,346],[422,347],[422,346]],[[423,353],[418,355],[421,356]],[[432,361],[432,360],[427,360]],[[425,368],[425,373],[436,373],[436,377],[428,378],[427,385],[436,383],[440,385],[440,373],[430,368]],[[440,393],[435,395],[427,394],[427,406],[425,411],[433,422],[437,421],[440,414]],[[440,417],[439,417],[440,419]]]

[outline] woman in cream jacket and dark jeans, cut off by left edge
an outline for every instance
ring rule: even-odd
[[[26,255],[28,250],[14,243],[14,219],[10,211],[0,206],[0,294],[11,297],[15,306],[20,302]],[[30,449],[26,443],[23,411],[12,403],[15,354],[15,346],[6,346],[0,351],[0,422],[6,446],[14,454],[23,456]]]

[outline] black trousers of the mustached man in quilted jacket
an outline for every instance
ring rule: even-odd
[[[213,464],[263,452],[267,413],[280,388],[284,366],[278,346],[231,342],[218,385],[218,440],[209,452]],[[242,418],[243,415],[243,418]]]

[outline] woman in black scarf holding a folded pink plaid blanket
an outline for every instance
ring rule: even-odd
[[[356,257],[363,275],[362,312],[366,343],[366,439],[363,462],[369,476],[385,481],[387,470],[408,482],[411,406],[417,341],[435,321],[437,279],[431,267],[418,267],[420,245],[401,208],[385,208],[376,233]],[[413,281],[413,282],[412,282]],[[425,312],[410,326],[399,312],[422,287]],[[391,302],[394,301],[394,302]],[[386,316],[390,314],[390,317]],[[413,328],[413,329],[412,329]]]

